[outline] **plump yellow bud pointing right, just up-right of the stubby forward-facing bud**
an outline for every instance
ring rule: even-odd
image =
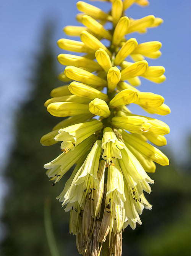
[[[130,103],[133,103],[138,99],[138,92],[131,89],[125,89],[123,91],[118,92],[113,99],[110,101],[109,106],[111,108],[113,107],[119,107],[122,105],[127,105]]]

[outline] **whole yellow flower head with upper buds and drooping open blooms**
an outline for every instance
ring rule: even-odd
[[[65,84],[51,91],[45,107],[53,116],[64,118],[40,140],[45,146],[61,142],[61,154],[44,165],[53,186],[73,167],[57,199],[70,211],[70,233],[76,235],[83,256],[99,256],[102,248],[107,255],[121,255],[122,231],[128,225],[132,229],[136,223],[141,225],[139,215],[144,208],[152,208],[144,195],[151,193],[149,184],[154,183],[147,173],[155,172],[155,163],[169,164],[149,143],[166,145],[168,125],[128,109],[136,104],[149,114],[170,113],[162,96],[136,89],[142,80],[165,81],[165,69],[147,62],[161,55],[162,44],[139,43],[131,37],[159,26],[162,19],[125,16],[131,5],[144,7],[147,0],[107,2],[111,9],[104,12],[79,1],[82,13],[76,18],[82,24],[64,28],[67,35],[79,39],[58,40],[58,46],[67,51],[58,55],[66,66],[58,78]]]

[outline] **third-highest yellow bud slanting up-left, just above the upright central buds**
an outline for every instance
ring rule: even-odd
[[[80,38],[83,41],[83,43],[88,46],[89,48],[91,48],[94,51],[99,50],[99,48],[104,49],[107,54],[111,57],[112,54],[110,53],[110,51],[107,49],[107,47],[105,45],[103,45],[95,36],[91,35],[89,32],[87,31],[82,31],[80,34]]]

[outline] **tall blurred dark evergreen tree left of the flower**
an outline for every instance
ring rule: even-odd
[[[9,193],[4,200],[2,222],[7,234],[1,245],[1,256],[49,256],[44,229],[44,201],[51,200],[53,228],[57,241],[68,242],[69,216],[55,200],[63,189],[64,181],[52,187],[43,165],[60,154],[59,146],[42,147],[40,137],[61,121],[51,116],[43,106],[50,91],[60,86],[57,79],[57,60],[52,46],[54,25],[45,25],[39,52],[34,57],[29,96],[16,113],[15,145],[4,171]],[[59,240],[60,239],[60,240]],[[75,239],[72,243],[77,252]],[[62,250],[62,249],[61,249]],[[64,254],[62,254],[64,255]],[[66,250],[66,254],[67,250]]]

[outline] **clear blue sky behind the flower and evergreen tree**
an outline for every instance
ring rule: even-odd
[[[56,23],[55,50],[61,53],[56,41],[65,37],[62,28],[66,25],[79,24],[74,18],[78,13],[76,2],[0,2],[0,165],[5,163],[14,140],[14,113],[27,95],[27,78],[30,74],[28,66],[39,48],[40,32],[45,20],[52,19]],[[110,9],[110,3],[88,0],[86,2],[105,11]],[[170,126],[171,132],[167,135],[168,145],[180,160],[188,155],[185,144],[186,137],[191,131],[190,10],[188,0],[153,0],[150,1],[149,7],[141,8],[134,5],[127,12],[132,18],[155,15],[164,20],[159,28],[150,29],[144,35],[132,34],[131,37],[136,37],[139,43],[162,42],[162,56],[157,60],[148,59],[148,62],[150,65],[164,66],[167,80],[163,84],[142,80],[139,90],[151,91],[165,97],[165,103],[170,106],[172,113],[157,118]]]

